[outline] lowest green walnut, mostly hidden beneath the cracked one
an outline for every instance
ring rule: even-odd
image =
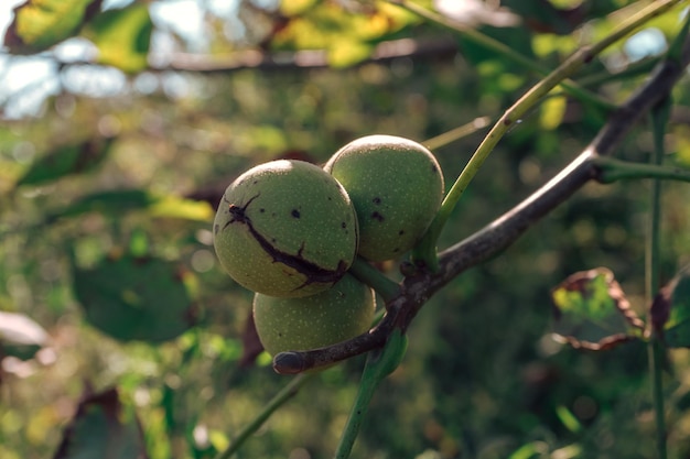
[[[305,298],[254,296],[254,320],[271,356],[316,349],[354,338],[371,326],[371,289],[346,274],[327,291]]]

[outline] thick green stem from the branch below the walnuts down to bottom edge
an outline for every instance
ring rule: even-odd
[[[349,412],[349,417],[335,451],[335,459],[347,459],[349,457],[376,389],[386,376],[398,368],[406,350],[407,337],[397,328],[390,335],[382,349],[369,352],[367,363],[362,373],[362,382],[359,383],[355,403]]]

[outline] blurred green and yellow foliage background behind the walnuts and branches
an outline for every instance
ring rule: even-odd
[[[211,222],[225,187],[278,157],[323,163],[362,135],[427,141],[471,123],[434,149],[450,186],[487,123],[540,77],[387,2],[40,3],[0,6],[0,312],[33,320],[0,318],[3,459],[53,457],[80,397],[109,387],[152,459],[214,457],[290,381],[257,356],[251,293],[216,263]],[[547,69],[647,3],[419,2]],[[683,14],[655,19],[575,80],[623,101]],[[689,92],[687,79],[676,88],[667,136],[668,161],[683,167]],[[440,249],[551,178],[606,116],[558,94],[535,108],[485,163]],[[643,122],[616,156],[647,161],[651,150]],[[564,347],[551,337],[550,299],[568,275],[606,266],[645,316],[648,189],[590,184],[432,297],[353,457],[653,457],[645,346]],[[664,185],[662,282],[690,261],[689,199],[687,185]],[[385,269],[399,278],[396,263]],[[121,313],[134,296],[153,310]],[[687,457],[688,353],[670,359],[669,441]],[[321,373],[237,457],[330,457],[362,365]]]

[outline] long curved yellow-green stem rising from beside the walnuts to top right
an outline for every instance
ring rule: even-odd
[[[551,91],[557,85],[563,83],[565,78],[580,69],[584,64],[589,63],[593,58],[593,56],[597,55],[622,37],[628,35],[632,31],[644,24],[646,21],[670,9],[679,0],[657,1],[638,11],[636,14],[627,18],[627,20],[618,24],[618,26],[611,34],[608,34],[601,41],[592,44],[591,46],[584,46],[578,50],[558,68],[556,68],[543,79],[537,83],[537,85],[529,89],[515,105],[513,105],[513,107],[510,107],[500,117],[498,122],[496,122],[496,124],[492,128],[488,134],[484,138],[484,140],[475,151],[474,155],[470,159],[470,162],[467,163],[465,168],[461,172],[460,176],[445,196],[445,199],[441,205],[441,209],[436,214],[430,228],[427,230],[427,234],[424,234],[424,237],[416,248],[413,252],[413,258],[422,261],[431,270],[435,271],[435,269],[438,267],[436,242],[441,230],[450,218],[453,209],[455,208],[455,205],[460,200],[464,190],[467,188],[470,182],[474,178],[476,173],[484,164],[484,161],[488,157],[488,154],[494,150],[498,141],[508,132],[508,130],[516,122],[519,122],[520,118],[529,109],[531,109],[537,102],[546,97],[549,91]],[[406,8],[410,8],[411,6],[413,6],[413,3],[410,3],[408,1],[402,1],[398,3]],[[414,12],[417,12],[417,10],[420,10],[420,8],[414,6]],[[449,22],[449,20],[443,17],[440,17],[440,19],[442,19],[444,23]],[[471,29],[465,28],[464,25],[462,28],[464,31],[463,33],[472,33],[474,35],[474,32],[468,32],[471,31]],[[502,46],[505,45],[502,44]],[[564,88],[567,87],[565,85],[562,86]]]

